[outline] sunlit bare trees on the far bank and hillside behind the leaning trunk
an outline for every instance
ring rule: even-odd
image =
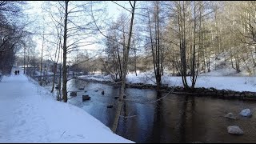
[[[210,63],[226,54],[225,61],[234,70],[240,72],[243,67],[255,74],[255,8],[255,2],[140,2],[134,19],[137,30],[131,37],[130,71],[141,52],[150,58],[147,67],[154,70],[158,86],[164,69],[169,69],[182,76],[186,89],[193,89],[198,73],[210,72]],[[123,73],[127,22],[126,15],[120,14],[107,30],[106,70],[116,78]]]

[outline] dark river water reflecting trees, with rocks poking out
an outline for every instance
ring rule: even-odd
[[[85,87],[85,90],[78,90],[79,87]],[[68,90],[78,90],[78,96],[69,100],[71,104],[86,110],[108,127],[113,125],[118,105],[114,97],[119,95],[120,87],[72,79],[68,82]],[[91,97],[90,101],[82,102],[85,94]],[[136,102],[124,102],[117,134],[134,142],[150,143],[256,142],[256,102],[166,94],[155,90],[126,89],[126,99]],[[158,98],[162,99],[150,102]],[[109,104],[114,107],[107,108]],[[239,115],[246,108],[253,110],[251,118]],[[229,112],[237,119],[224,118]],[[233,125],[239,126],[244,134],[228,134],[227,126]]]

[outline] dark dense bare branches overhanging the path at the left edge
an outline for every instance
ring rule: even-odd
[[[0,72],[10,74],[15,54],[26,48],[30,33],[22,7],[26,2],[0,1]]]

